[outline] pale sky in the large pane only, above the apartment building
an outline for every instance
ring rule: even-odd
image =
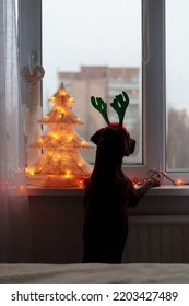
[[[140,0],[43,0],[43,12],[44,83],[51,82],[50,90],[57,71],[140,66]]]

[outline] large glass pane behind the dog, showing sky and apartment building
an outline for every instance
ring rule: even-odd
[[[84,122],[73,128],[86,141],[105,126],[91,96],[109,104],[126,91],[130,105],[125,125],[137,140],[129,162],[142,163],[141,0],[44,0],[43,66],[44,114],[52,107],[48,98],[63,82],[75,101],[74,115]],[[108,115],[118,120],[110,108]],[[94,162],[95,150],[81,154]]]

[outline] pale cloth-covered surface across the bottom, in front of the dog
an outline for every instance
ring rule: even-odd
[[[0,264],[0,284],[189,284],[189,264]]]

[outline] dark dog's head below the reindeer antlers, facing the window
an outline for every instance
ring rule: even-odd
[[[119,154],[120,157],[129,156],[135,149],[135,140],[125,128],[102,128],[92,136],[91,141],[104,152]]]

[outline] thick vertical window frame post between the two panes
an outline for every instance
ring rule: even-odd
[[[144,166],[165,170],[165,1],[144,1],[149,12],[150,60],[143,63]],[[143,12],[144,16],[144,12]],[[147,34],[145,34],[147,35]]]

